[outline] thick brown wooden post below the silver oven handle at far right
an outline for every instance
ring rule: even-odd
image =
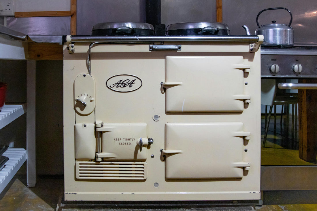
[[[317,83],[317,80],[300,80]],[[317,90],[298,90],[299,156],[307,162],[316,162],[317,156]]]

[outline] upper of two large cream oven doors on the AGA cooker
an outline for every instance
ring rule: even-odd
[[[166,112],[242,112],[243,56],[166,56]]]

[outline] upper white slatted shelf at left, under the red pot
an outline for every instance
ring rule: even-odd
[[[23,105],[4,105],[0,112],[0,130],[26,112]]]

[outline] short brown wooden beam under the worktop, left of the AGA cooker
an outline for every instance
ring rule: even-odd
[[[57,43],[28,43],[28,60],[63,60],[63,46]]]

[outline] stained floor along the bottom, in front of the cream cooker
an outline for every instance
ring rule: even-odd
[[[137,208],[114,208],[114,205],[76,205],[76,204],[63,204],[63,178],[61,177],[39,177],[37,185],[34,188],[27,188],[25,184],[25,177],[14,178],[14,182],[9,184],[10,187],[6,191],[5,195],[0,201],[1,211],[46,211],[46,210],[58,210],[58,211],[305,211],[305,210],[317,210],[317,204],[287,204],[287,205],[262,205],[262,207],[256,206],[202,206],[202,204],[191,204],[178,207],[165,207],[162,205],[156,205],[155,208],[144,208],[144,204]],[[23,181],[23,182],[22,182]],[[165,208],[158,208],[158,207]]]

